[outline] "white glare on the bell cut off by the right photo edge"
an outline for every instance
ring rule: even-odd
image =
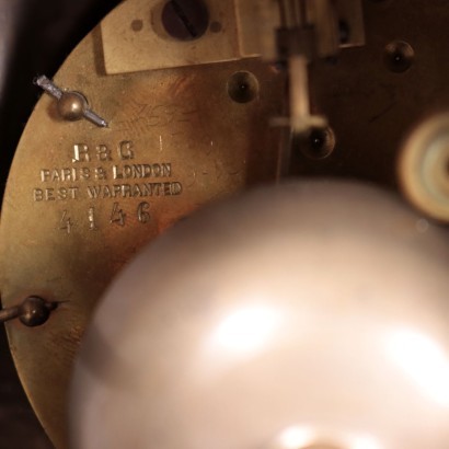
[[[398,331],[388,341],[388,352],[423,393],[449,406],[449,358],[436,342],[414,331]]]

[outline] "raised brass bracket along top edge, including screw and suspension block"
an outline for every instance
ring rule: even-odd
[[[113,12],[102,23],[104,65],[107,73],[222,62],[263,55],[277,57],[275,31],[298,25],[302,0],[279,2],[272,0],[184,0],[169,3],[158,0],[127,2],[120,12]],[[170,8],[174,3],[176,8]],[[195,3],[207,9],[208,23],[198,31],[188,31],[183,23],[183,3],[187,13]],[[283,4],[288,8],[281,8]],[[320,0],[307,2],[307,13],[316,28],[316,49],[320,56],[333,55],[338,46],[350,47],[365,43],[360,0]],[[169,7],[169,8],[166,8]],[[283,23],[283,14],[288,20]],[[200,9],[200,5],[197,5]],[[177,13],[176,13],[177,11]],[[177,21],[171,15],[181,14]],[[198,20],[202,14],[196,14]],[[306,20],[306,18],[302,18]],[[203,19],[206,20],[206,19]],[[338,20],[348,28],[347,38],[338,42]],[[199,30],[199,28],[198,28]],[[301,39],[299,39],[301,41]],[[298,42],[300,45],[301,43]],[[134,55],[139,51],[139,58]]]

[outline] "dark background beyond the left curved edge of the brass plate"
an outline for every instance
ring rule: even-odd
[[[0,197],[23,128],[71,49],[118,0],[0,0]],[[49,449],[18,379],[0,324],[0,449]]]

